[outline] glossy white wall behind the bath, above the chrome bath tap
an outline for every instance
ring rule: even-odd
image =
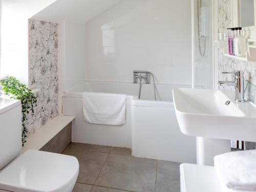
[[[191,84],[191,1],[122,1],[87,23],[86,78]]]

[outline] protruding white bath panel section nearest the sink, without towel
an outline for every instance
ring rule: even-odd
[[[196,163],[196,138],[181,133],[174,108],[132,106],[132,155]]]

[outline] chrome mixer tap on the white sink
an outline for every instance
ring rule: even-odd
[[[234,81],[219,81],[220,86],[234,86],[235,100],[237,102],[244,102],[244,72],[231,71],[222,72],[224,74],[234,74]]]

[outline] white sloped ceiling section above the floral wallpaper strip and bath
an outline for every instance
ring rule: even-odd
[[[68,20],[85,24],[120,1],[122,0],[57,0],[31,18],[55,23]]]

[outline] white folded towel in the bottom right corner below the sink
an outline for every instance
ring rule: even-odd
[[[256,190],[256,150],[230,152],[214,157],[220,182],[232,190]]]

